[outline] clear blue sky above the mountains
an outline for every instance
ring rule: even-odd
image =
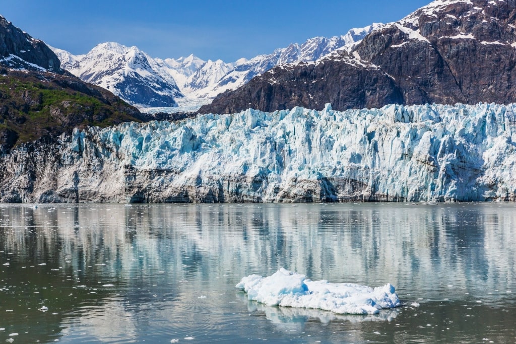
[[[399,20],[430,0],[15,0],[0,14],[72,54],[99,43],[136,45],[152,57],[194,54],[235,61],[315,36]]]

